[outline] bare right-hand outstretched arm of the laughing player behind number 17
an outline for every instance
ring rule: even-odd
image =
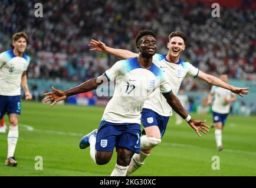
[[[206,83],[210,85],[219,86],[221,88],[225,88],[231,90],[231,92],[236,93],[240,96],[247,95],[249,88],[237,88],[234,86],[229,85],[228,83],[223,82],[221,79],[216,78],[215,76],[208,75],[201,70],[199,70],[198,78],[204,80]]]

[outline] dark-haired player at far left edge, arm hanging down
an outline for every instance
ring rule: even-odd
[[[26,70],[30,58],[26,55],[28,35],[18,32],[12,36],[14,49],[0,53],[0,122],[5,113],[9,116],[8,154],[5,164],[17,166],[14,152],[18,141],[18,119],[21,114],[21,86],[27,100],[32,99],[28,90]]]

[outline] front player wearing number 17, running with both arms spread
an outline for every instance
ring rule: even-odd
[[[52,106],[68,96],[96,89],[103,83],[99,80],[115,80],[114,95],[104,110],[97,137],[96,131],[93,131],[80,142],[81,149],[90,145],[91,157],[97,164],[108,163],[116,147],[117,163],[111,176],[125,176],[134,152],[140,152],[140,112],[143,103],[156,88],[160,88],[168,104],[188,121],[199,136],[198,130],[203,133],[208,131],[205,121],[192,120],[186,113],[178,98],[173,95],[163,71],[152,63],[152,56],[156,52],[155,33],[141,31],[136,37],[136,46],[139,50],[138,58],[116,62],[104,75],[76,88],[65,92],[52,88],[54,92],[45,93],[48,96],[44,101],[53,101]],[[196,127],[194,123],[199,126]]]

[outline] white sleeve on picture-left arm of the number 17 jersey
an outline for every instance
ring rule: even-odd
[[[114,65],[109,70],[106,70],[104,75],[107,76],[107,79],[109,81],[114,81],[117,78],[117,76],[123,75],[123,67],[124,61],[118,61],[114,63]]]

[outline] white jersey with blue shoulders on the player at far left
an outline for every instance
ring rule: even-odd
[[[27,70],[30,58],[25,53],[15,56],[13,50],[0,53],[0,95],[21,95],[21,75]]]

